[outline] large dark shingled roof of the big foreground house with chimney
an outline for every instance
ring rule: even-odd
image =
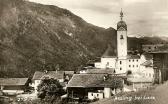
[[[67,87],[123,87],[123,79],[121,77],[107,74],[74,74],[69,81]]]

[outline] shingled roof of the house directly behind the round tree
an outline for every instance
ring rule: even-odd
[[[64,71],[47,71],[47,73],[42,71],[36,71],[33,76],[33,80],[42,79],[44,77],[63,79]]]

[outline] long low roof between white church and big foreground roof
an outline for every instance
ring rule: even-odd
[[[114,74],[115,69],[87,69],[86,73],[88,74]]]

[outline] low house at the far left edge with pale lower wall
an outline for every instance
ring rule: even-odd
[[[24,93],[28,83],[28,78],[0,78],[1,91],[7,95]]]

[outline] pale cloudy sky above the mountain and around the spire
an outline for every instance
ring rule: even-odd
[[[168,37],[168,0],[29,0],[56,5],[80,16],[88,23],[116,29],[120,20],[128,26],[129,36]]]

